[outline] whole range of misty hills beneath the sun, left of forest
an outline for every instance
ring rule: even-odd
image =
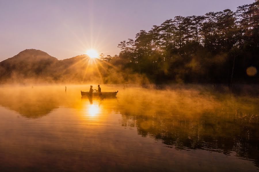
[[[0,83],[123,83],[137,80],[100,59],[87,55],[58,60],[46,52],[26,49],[0,62]],[[131,82],[132,83],[132,82]]]

